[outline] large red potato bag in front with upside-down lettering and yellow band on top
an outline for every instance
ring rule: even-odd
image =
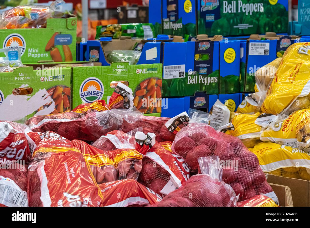
[[[102,194],[86,156],[64,137],[47,132],[28,167],[32,207],[100,206]]]

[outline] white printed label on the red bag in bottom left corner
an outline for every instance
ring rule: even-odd
[[[0,176],[0,203],[7,207],[28,207],[27,192],[10,178]]]

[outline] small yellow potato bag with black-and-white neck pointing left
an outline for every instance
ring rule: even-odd
[[[219,131],[239,138],[247,148],[251,148],[259,141],[261,126],[255,123],[258,116],[259,113],[236,115]]]

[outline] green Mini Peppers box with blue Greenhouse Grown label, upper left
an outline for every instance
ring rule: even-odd
[[[2,48],[20,47],[21,61],[24,64],[38,63],[39,61],[75,61],[77,37],[76,24],[77,19],[75,17],[66,19],[49,18],[47,19],[46,28],[0,29],[0,44],[3,45]],[[49,41],[54,47],[46,51]],[[68,48],[65,47],[65,45],[67,45],[71,51],[71,58],[69,51],[65,51],[68,55],[68,57],[65,58],[64,48]],[[59,53],[56,48],[59,50]]]

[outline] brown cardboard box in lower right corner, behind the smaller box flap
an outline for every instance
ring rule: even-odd
[[[310,206],[310,181],[268,174],[267,182],[288,186],[291,190],[292,199],[295,207]]]

